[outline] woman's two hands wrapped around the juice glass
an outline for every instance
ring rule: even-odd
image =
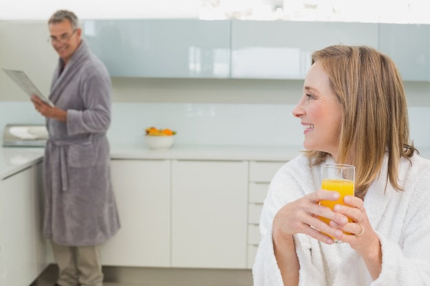
[[[328,237],[332,235],[339,241],[349,243],[363,257],[372,278],[376,279],[382,270],[381,243],[370,225],[363,200],[347,195],[343,199],[346,205],[336,204],[333,211],[319,205],[321,200],[335,201],[338,198],[337,191],[321,189],[286,204],[273,219],[273,241],[276,242],[280,237],[288,241],[292,235],[303,233],[332,244],[333,239]],[[330,225],[321,221],[319,217],[330,219]],[[348,217],[352,222],[348,222]]]

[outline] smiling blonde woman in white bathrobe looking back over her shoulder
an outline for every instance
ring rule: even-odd
[[[394,62],[371,47],[316,51],[293,115],[307,151],[269,187],[254,285],[429,285],[430,160],[409,140]],[[355,196],[334,211],[319,205],[339,198],[321,190],[324,163],[356,166]]]

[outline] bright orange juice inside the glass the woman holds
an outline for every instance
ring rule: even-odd
[[[325,189],[328,191],[337,191],[340,193],[340,197],[338,200],[321,200],[319,204],[321,206],[328,206],[333,209],[335,204],[344,204],[343,198],[346,195],[354,195],[354,181],[352,180],[344,180],[344,179],[324,179],[322,181],[321,189]],[[326,224],[330,224],[330,219],[326,217],[319,217]],[[352,222],[352,219],[349,219]],[[349,233],[346,233],[349,235]],[[331,237],[331,236],[330,236]],[[334,237],[332,237],[334,239]]]

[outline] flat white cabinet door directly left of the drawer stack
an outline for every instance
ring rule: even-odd
[[[172,266],[245,268],[247,162],[172,162]]]

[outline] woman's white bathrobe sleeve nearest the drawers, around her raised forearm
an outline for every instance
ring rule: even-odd
[[[301,198],[306,193],[315,191],[312,180],[300,181],[299,173],[307,173],[311,178],[307,158],[299,155],[286,163],[273,177],[260,219],[260,234],[262,240],[258,247],[256,261],[253,265],[254,286],[281,286],[282,276],[273,250],[272,225],[275,214],[280,208]],[[297,180],[298,179],[298,180]],[[304,191],[306,190],[306,191]],[[321,269],[313,265],[310,252],[310,243],[306,235],[295,235],[295,247],[300,263],[300,286],[325,285]]]

